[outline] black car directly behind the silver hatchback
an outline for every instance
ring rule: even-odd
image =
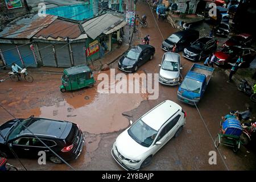
[[[190,43],[194,42],[199,38],[199,31],[187,29],[176,32],[170,35],[166,40],[163,41],[161,48],[164,51],[171,51],[174,44],[176,44],[176,52],[183,50],[189,46]]]

